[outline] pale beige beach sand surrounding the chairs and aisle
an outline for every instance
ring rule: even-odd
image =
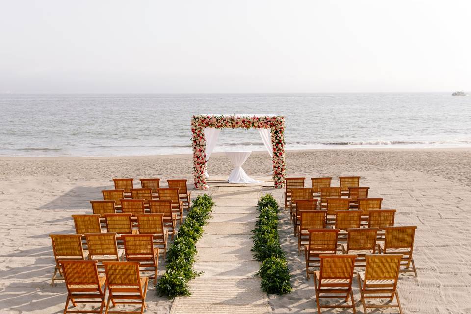
[[[308,185],[314,176],[332,176],[336,185],[337,176],[361,175],[371,197],[397,209],[396,225],[418,226],[418,278],[401,274],[398,284],[406,313],[471,313],[471,149],[288,151],[286,161],[288,176],[304,175]],[[252,176],[267,175],[270,157],[254,152],[243,168]],[[228,176],[231,169],[224,154],[211,156],[211,176]],[[63,311],[63,282],[49,286],[54,261],[48,235],[73,233],[70,215],[91,213],[89,200],[101,199],[113,177],[192,180],[191,156],[0,157],[0,313]],[[282,204],[282,190],[263,192]],[[192,197],[199,193],[192,191]],[[305,279],[287,212],[281,213],[280,239],[294,290],[269,296],[269,304],[278,313],[313,312],[313,281]],[[162,274],[163,262],[159,269]],[[146,313],[168,313],[171,300],[149,288]],[[354,291],[358,301],[356,282]],[[361,306],[357,310],[362,313]],[[395,313],[376,313],[383,312]]]

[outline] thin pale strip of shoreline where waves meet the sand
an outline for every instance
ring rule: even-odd
[[[236,151],[236,150],[235,150]],[[371,151],[371,152],[471,152],[471,147],[430,147],[430,148],[400,148],[400,147],[378,147],[378,148],[314,148],[314,149],[293,149],[286,150],[285,155],[290,153],[312,153],[312,152],[338,152],[338,151]],[[251,155],[261,155],[267,153],[266,150],[252,151]],[[162,155],[122,155],[122,156],[0,156],[0,160],[103,160],[103,159],[147,159],[147,158],[188,158],[193,154],[162,154]],[[225,156],[224,152],[215,152],[211,154],[212,157]]]

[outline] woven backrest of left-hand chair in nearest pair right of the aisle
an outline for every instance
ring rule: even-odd
[[[344,279],[348,283],[353,281],[353,268],[355,266],[356,254],[321,254],[318,288],[323,280]],[[331,283],[329,283],[332,286]]]

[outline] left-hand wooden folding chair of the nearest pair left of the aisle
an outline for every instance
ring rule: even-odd
[[[65,286],[68,292],[64,314],[103,313],[106,277],[98,275],[97,261],[62,261],[62,273],[64,274]],[[69,302],[72,302],[74,307],[77,306],[77,303],[100,303],[100,309],[70,311],[68,310]]]

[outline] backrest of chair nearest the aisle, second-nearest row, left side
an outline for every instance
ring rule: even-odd
[[[122,235],[126,260],[141,261],[154,257],[154,235]]]

